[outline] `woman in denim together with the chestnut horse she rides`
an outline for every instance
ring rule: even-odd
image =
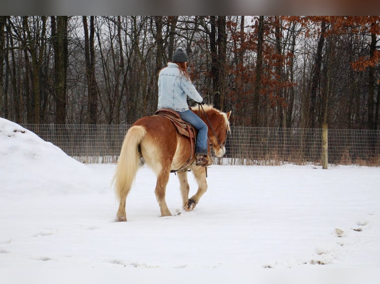
[[[178,111],[182,119],[198,129],[196,158],[193,155],[191,139],[180,134],[171,120],[162,115],[151,115],[134,122],[124,138],[113,179],[116,195],[120,202],[116,215],[118,222],[127,221],[127,195],[137,170],[142,165],[146,164],[156,174],[154,193],[160,206],[161,216],[171,216],[165,200],[170,172],[177,172],[183,208],[191,211],[207,190],[206,166],[211,161],[207,154],[208,146],[212,146],[216,157],[222,157],[226,152],[225,144],[230,131],[231,111],[225,113],[211,105],[202,106],[202,113],[200,113],[200,109],[189,109],[187,96],[198,103],[202,102],[202,97],[190,82],[186,70],[188,60],[185,52],[177,49],[173,55],[174,62],[169,63],[166,68],[161,70],[158,79],[158,108],[171,108]],[[189,170],[198,184],[198,190],[190,198],[187,179]]]

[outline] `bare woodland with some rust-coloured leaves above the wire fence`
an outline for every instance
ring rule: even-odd
[[[189,54],[232,126],[379,130],[380,16],[0,16],[0,116],[132,124]]]

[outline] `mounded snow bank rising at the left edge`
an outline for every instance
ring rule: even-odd
[[[84,193],[96,187],[91,170],[84,164],[3,118],[0,118],[0,173],[2,193]]]

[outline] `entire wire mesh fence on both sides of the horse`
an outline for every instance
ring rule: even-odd
[[[130,125],[24,124],[83,163],[115,163]],[[319,164],[321,129],[231,127],[227,153],[214,164]],[[380,166],[380,131],[328,130],[328,163]]]

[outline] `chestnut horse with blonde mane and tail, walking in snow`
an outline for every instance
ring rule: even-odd
[[[222,112],[212,105],[202,105],[202,109],[192,107],[191,110],[207,124],[208,142],[212,145],[215,156],[222,157],[225,152],[227,133],[230,132],[229,118],[231,111]],[[171,216],[165,201],[166,185],[170,172],[177,172],[183,208],[191,211],[207,190],[207,168],[195,165],[190,139],[178,133],[175,125],[161,116],[144,116],[138,119],[127,131],[113,178],[116,195],[120,201],[116,222],[127,221],[126,200],[135,179],[137,170],[146,164],[156,174],[155,195],[160,206],[161,216]],[[210,148],[210,147],[209,147]],[[184,165],[189,165],[183,168]],[[180,170],[179,170],[180,169]],[[187,172],[195,177],[198,190],[189,198]]]

